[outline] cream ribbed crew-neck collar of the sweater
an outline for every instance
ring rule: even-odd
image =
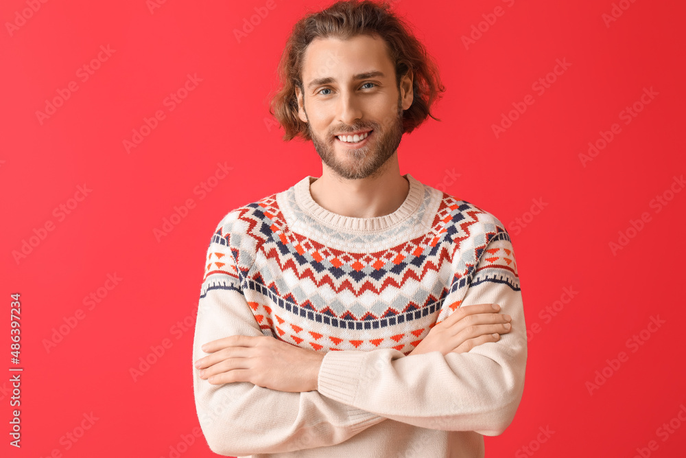
[[[411,216],[421,204],[422,196],[424,195],[424,185],[414,179],[412,175],[403,175],[410,181],[410,192],[407,194],[403,204],[398,207],[392,214],[385,216],[376,216],[374,218],[353,218],[352,216],[342,216],[335,214],[318,203],[312,198],[309,192],[309,185],[316,178],[314,176],[305,176],[302,180],[296,183],[295,194],[296,202],[304,210],[307,211],[318,222],[336,229],[344,229],[348,231],[383,231],[398,225],[407,217]]]

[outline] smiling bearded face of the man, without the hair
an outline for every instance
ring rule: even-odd
[[[344,179],[379,172],[400,144],[403,110],[412,104],[412,79],[403,78],[399,90],[381,38],[315,39],[305,51],[303,87],[298,114],[324,164]],[[359,144],[338,138],[360,132],[368,136]]]

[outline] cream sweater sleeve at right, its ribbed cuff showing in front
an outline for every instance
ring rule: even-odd
[[[404,356],[394,349],[329,352],[322,361],[319,392],[414,426],[503,433],[521,400],[527,356],[519,277],[504,229],[495,233],[477,259],[466,280],[466,293],[464,288],[451,288],[438,321],[447,318],[456,304],[494,303],[501,306],[501,313],[512,316],[509,333],[497,342],[445,356],[438,351]]]

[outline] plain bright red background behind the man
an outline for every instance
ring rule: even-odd
[[[24,368],[22,447],[9,446],[5,435],[0,449],[27,457],[55,449],[65,457],[213,456],[202,438],[178,448],[198,426],[191,343],[204,255],[230,209],[306,174],[319,176],[311,143],[283,142],[268,100],[292,26],[331,2],[276,0],[240,41],[234,30],[266,1],[167,1],[152,10],[144,0],[48,1],[34,2],[36,12],[28,3],[5,0],[0,8],[0,342],[8,358],[2,365],[11,367],[7,315],[10,294],[21,293]],[[519,263],[531,332],[525,391],[508,430],[486,437],[488,457],[634,457],[638,450],[680,457],[686,450],[686,424],[677,416],[686,404],[686,192],[668,192],[686,171],[686,7],[619,3],[394,2],[447,87],[435,110],[442,121],[429,119],[403,137],[401,172],[427,185],[446,183],[447,192],[495,214],[510,230]],[[603,14],[615,5],[622,14],[606,24]],[[503,14],[482,23],[488,30],[474,32],[478,39],[465,47],[462,36],[484,14],[493,21],[488,14],[498,6]],[[101,45],[113,52],[84,81],[79,69]],[[544,93],[535,91],[556,59],[569,68],[549,76],[555,81]],[[202,81],[170,111],[165,98],[188,74]],[[78,90],[39,119],[46,100],[72,81]],[[644,88],[657,95],[624,124],[620,113]],[[496,137],[501,113],[528,94],[534,103]],[[127,152],[123,141],[158,110],[164,119]],[[582,163],[589,141],[615,123],[621,133]],[[203,196],[197,187],[215,176],[217,163],[233,170],[210,180],[215,186]],[[459,176],[451,181],[447,172]],[[84,183],[92,191],[70,201]],[[657,211],[656,196],[672,200]],[[156,237],[163,218],[188,199],[194,207],[185,218]],[[534,199],[547,205],[532,216]],[[60,220],[54,209],[69,204],[77,205]],[[628,244],[613,253],[610,242],[643,213],[648,222],[629,230]],[[517,229],[516,218],[525,227]],[[15,259],[49,221],[54,230]],[[106,297],[88,310],[84,297],[103,288],[108,274],[121,281],[100,289]],[[547,318],[564,288],[578,294]],[[46,350],[45,341],[79,309],[85,316]],[[664,323],[651,332],[657,316]],[[641,345],[627,342],[634,335]],[[171,346],[134,381],[130,369],[164,339]],[[613,369],[607,360],[619,352],[626,358]],[[587,382],[603,369],[609,376],[589,393]],[[7,374],[0,415],[9,431]],[[92,427],[77,442],[65,439],[91,412]],[[658,428],[670,421],[679,426],[665,437]],[[539,436],[547,427],[554,433]]]

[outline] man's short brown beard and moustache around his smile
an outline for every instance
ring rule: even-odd
[[[382,128],[378,123],[355,124],[350,129],[341,128],[338,131],[344,130],[352,132],[374,130],[374,138],[372,142],[362,146],[362,148],[344,150],[342,152],[343,157],[340,158],[336,156],[335,151],[337,139],[333,135],[327,135],[325,139],[321,139],[312,132],[309,122],[307,123],[307,131],[312,138],[312,143],[314,143],[314,149],[322,158],[322,162],[340,178],[358,180],[379,175],[382,171],[381,166],[395,154],[403,138],[403,104],[401,98],[398,97],[397,112],[387,126]]]

